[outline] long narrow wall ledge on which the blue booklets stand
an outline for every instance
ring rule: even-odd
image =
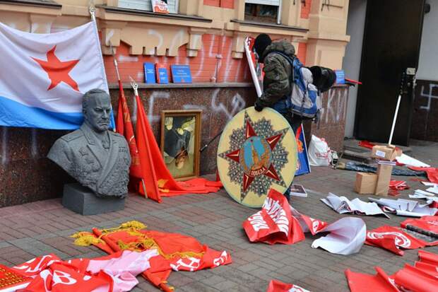
[[[236,88],[236,87],[253,87],[253,83],[215,83],[215,82],[206,82],[206,83],[169,83],[169,84],[159,84],[159,83],[138,83],[138,88],[150,88],[150,89],[167,89],[167,88]],[[109,89],[119,89],[119,83],[108,83]],[[130,83],[123,83],[123,88],[131,88]]]

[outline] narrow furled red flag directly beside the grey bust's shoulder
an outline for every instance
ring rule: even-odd
[[[119,80],[119,108],[117,110],[116,120],[117,133],[125,137],[129,145],[129,153],[131,153],[131,168],[129,168],[129,175],[141,178],[140,157],[138,156],[138,149],[136,138],[134,137],[134,128],[132,127],[131,115],[129,114],[128,104],[123,91],[122,81]]]

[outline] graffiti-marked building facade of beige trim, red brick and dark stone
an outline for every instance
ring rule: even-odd
[[[150,0],[0,0],[0,21],[30,33],[55,33],[89,22],[90,3],[96,9],[114,107],[119,89],[112,48],[132,112],[130,77],[139,85],[157,138],[161,110],[203,110],[201,144],[254,103],[245,37],[268,33],[288,40],[304,64],[332,69],[341,69],[350,38],[348,0],[168,0],[168,14],[151,12]],[[144,62],[167,69],[188,64],[194,82],[146,84]],[[337,87],[326,93],[319,128],[312,126],[313,133],[326,137],[337,150],[342,147],[347,91]],[[61,195],[62,185],[71,179],[45,156],[63,134],[0,128],[0,206]],[[216,146],[217,141],[202,153],[201,174],[214,173]]]

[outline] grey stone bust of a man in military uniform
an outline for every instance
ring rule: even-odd
[[[131,156],[124,136],[109,131],[109,95],[92,89],[83,95],[81,128],[61,136],[47,158],[66,170],[97,197],[125,197]]]

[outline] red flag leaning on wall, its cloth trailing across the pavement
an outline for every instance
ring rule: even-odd
[[[211,182],[204,178],[196,178],[185,182],[174,180],[162,159],[160,148],[153,134],[140,98],[136,95],[137,103],[137,145],[140,156],[146,192],[150,199],[161,202],[161,197],[173,197],[179,194],[206,194],[217,192],[222,184]],[[139,187],[144,194],[143,187]]]

